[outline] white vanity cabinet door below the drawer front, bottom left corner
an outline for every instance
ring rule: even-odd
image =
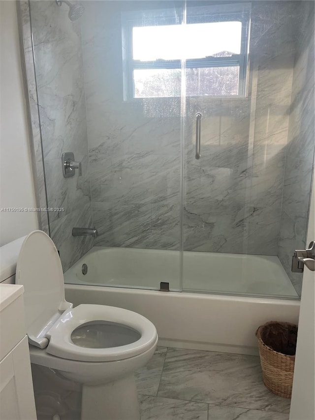
[[[36,420],[27,336],[0,362],[0,420]]]

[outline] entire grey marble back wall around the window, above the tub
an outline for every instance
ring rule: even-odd
[[[179,98],[123,100],[121,11],[161,7],[150,3],[86,2],[95,244],[179,249],[182,134],[184,249],[277,255],[298,2],[252,3],[248,97],[188,98],[184,127]]]

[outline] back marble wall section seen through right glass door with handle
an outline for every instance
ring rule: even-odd
[[[296,13],[294,1],[252,2],[248,97],[188,101],[188,118],[203,117],[200,161],[187,123],[187,250],[278,253]]]

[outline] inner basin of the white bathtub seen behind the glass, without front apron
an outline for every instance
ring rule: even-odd
[[[94,247],[65,273],[65,283],[180,291],[180,252]],[[82,273],[87,264],[88,272]],[[278,257],[185,251],[183,291],[298,298]]]

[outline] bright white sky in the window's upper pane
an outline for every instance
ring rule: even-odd
[[[186,60],[221,51],[240,54],[241,22],[134,27],[133,60]]]

